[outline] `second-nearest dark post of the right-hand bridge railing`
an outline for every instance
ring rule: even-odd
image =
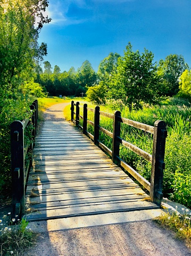
[[[119,157],[119,146],[120,142],[118,141],[117,137],[120,137],[120,128],[121,122],[118,120],[118,117],[121,117],[120,111],[115,111],[113,117],[113,143],[112,143],[112,161],[115,164],[119,164],[118,160],[115,157]]]

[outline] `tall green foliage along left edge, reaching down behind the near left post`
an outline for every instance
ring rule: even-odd
[[[11,188],[10,124],[30,118],[29,105],[35,96],[44,96],[35,83],[34,68],[47,54],[47,45],[38,44],[43,24],[51,19],[43,13],[47,0],[1,0],[0,5],[0,191],[7,197]],[[38,17],[38,27],[35,28]],[[4,191],[2,191],[2,188]]]

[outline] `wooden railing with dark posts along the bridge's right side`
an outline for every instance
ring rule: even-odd
[[[74,111],[76,107],[76,112]],[[88,111],[94,112],[94,122],[88,120]],[[75,115],[75,119],[74,119]],[[113,133],[99,126],[99,116],[103,115],[104,117],[113,119]],[[83,125],[80,126],[79,120],[83,120]],[[151,201],[157,205],[161,205],[163,198],[162,193],[162,183],[163,183],[163,170],[165,167],[164,164],[164,151],[165,151],[165,138],[167,137],[167,130],[164,121],[157,120],[154,123],[154,126],[145,125],[137,121],[129,120],[121,117],[120,111],[115,111],[114,114],[105,113],[99,110],[99,106],[96,106],[95,109],[88,108],[87,104],[83,106],[83,115],[80,115],[80,104],[71,102],[71,120],[79,126],[85,135],[90,137],[94,144],[102,148],[107,154],[112,158],[112,161],[115,164],[122,166],[127,170],[143,187],[150,192]],[[94,135],[90,134],[87,131],[87,123],[94,127]],[[144,130],[147,133],[153,134],[153,150],[152,155],[145,152],[142,149],[139,149],[137,146],[125,141],[120,137],[121,123],[126,125]],[[107,148],[101,141],[99,141],[99,131],[102,131],[104,134],[112,138],[112,150]],[[144,177],[142,177],[135,169],[129,166],[125,161],[119,157],[120,144],[130,149],[131,151],[138,154],[140,157],[143,157],[147,161],[151,162],[151,183],[148,182]]]

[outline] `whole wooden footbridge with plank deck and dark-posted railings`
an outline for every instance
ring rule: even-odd
[[[76,112],[74,111],[74,106],[77,107]],[[122,140],[119,137],[119,118],[115,120],[114,115],[104,114],[97,108],[94,111],[94,122],[89,121],[91,125],[95,126],[94,135],[91,135],[87,131],[87,110],[90,109],[87,108],[86,104],[83,108],[84,116],[80,115],[79,104],[72,102],[72,120],[77,126],[80,126],[80,118],[84,121],[84,125],[81,127],[84,130],[84,134],[67,121],[45,120],[43,123],[40,133],[35,138],[33,164],[29,175],[25,174],[24,177],[27,183],[23,185],[23,189],[26,192],[24,195],[13,196],[13,215],[19,211],[19,214],[26,216],[27,220],[38,221],[103,213],[140,211],[160,207],[162,200],[162,177],[160,175],[164,166],[164,149],[161,148],[161,145],[164,148],[165,144],[165,136],[163,135],[165,130],[164,122],[159,132],[157,127],[129,120],[131,125],[139,126],[139,128],[144,127],[144,130],[150,133],[156,132],[156,137],[153,139],[153,144],[157,144],[154,146],[154,157],[140,149],[138,150],[135,146],[129,146],[139,155],[154,161],[153,181],[150,183],[138,175],[119,156],[113,156],[112,154],[112,152],[118,153],[119,143],[116,143],[117,139],[118,142]],[[96,111],[99,114],[113,118],[114,129],[112,135],[109,131],[99,126]],[[75,119],[73,119],[73,115],[76,115]],[[120,117],[119,112],[118,117]],[[127,122],[127,120],[123,119],[122,121]],[[107,154],[111,153],[112,159],[107,157],[103,150],[95,145],[97,143],[99,146],[101,145],[98,141],[96,129],[105,131],[109,136],[113,136],[113,141],[116,143],[113,146],[113,151],[110,152],[109,149],[105,148]],[[161,130],[163,130],[163,133]],[[12,133],[15,134],[15,131],[12,131]],[[92,137],[94,142],[85,134]],[[160,134],[162,136],[159,138]],[[160,151],[160,153],[157,151]],[[23,156],[24,154],[26,153],[23,153]],[[114,163],[113,159],[117,159],[118,162],[120,160],[121,166],[127,167],[139,182],[145,184],[146,189],[150,190],[150,194],[152,193],[151,198]],[[20,176],[22,176],[22,168],[26,168],[24,166],[16,167],[13,164],[13,182],[18,183]],[[16,193],[20,192],[15,192],[14,195]]]

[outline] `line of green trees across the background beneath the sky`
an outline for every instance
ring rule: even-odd
[[[153,63],[154,55],[144,49],[133,51],[129,43],[124,56],[111,52],[98,66],[97,73],[88,60],[75,71],[74,67],[61,73],[48,61],[43,69],[36,66],[35,82],[50,96],[82,96],[85,93],[92,102],[104,104],[106,99],[120,99],[132,108],[143,103],[156,104],[162,96],[191,96],[190,72],[181,55],[169,55],[159,63]],[[185,73],[184,73],[185,72]],[[186,82],[185,82],[186,81]],[[186,88],[185,88],[186,87]]]

